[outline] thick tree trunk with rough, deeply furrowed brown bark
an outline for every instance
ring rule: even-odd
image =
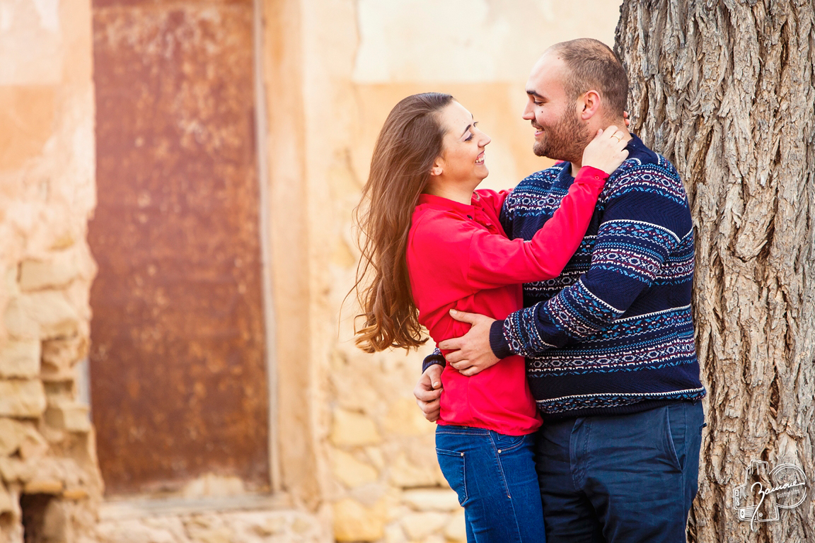
[[[621,8],[632,129],[676,165],[697,229],[709,426],[689,541],[815,541],[813,11],[813,0]],[[795,464],[807,480],[800,506],[754,531],[734,510],[751,460]]]

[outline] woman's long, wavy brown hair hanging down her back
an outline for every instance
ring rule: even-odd
[[[444,128],[438,112],[450,94],[413,94],[391,110],[373,148],[371,173],[355,209],[362,258],[357,266],[357,299],[363,326],[357,347],[374,353],[390,347],[416,348],[422,337],[407,276],[407,233],[413,209],[442,154]],[[353,290],[353,289],[352,289]]]

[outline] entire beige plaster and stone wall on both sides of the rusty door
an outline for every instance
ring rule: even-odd
[[[259,120],[259,142],[267,168],[272,484],[286,497],[270,507],[292,513],[251,520],[237,513],[204,519],[189,508],[161,519],[145,510],[108,514],[85,541],[125,541],[123,534],[228,541],[247,525],[257,541],[329,541],[320,535],[326,529],[341,541],[462,540],[460,508],[436,465],[434,426],[411,394],[429,347],[407,356],[368,356],[354,347],[357,309],[343,305],[359,257],[351,211],[382,121],[415,92],[450,92],[480,120],[493,140],[485,186],[512,186],[543,168],[520,118],[531,63],[573,37],[611,43],[618,5],[255,3],[264,20],[267,116]],[[77,530],[92,523],[99,495],[74,380],[86,354],[95,274],[86,243],[95,207],[90,21],[89,0],[0,0],[0,388],[13,392],[0,393],[0,513],[7,511],[0,524],[19,522],[26,484],[50,488]],[[44,420],[53,428],[42,433]],[[72,443],[81,446],[66,448]],[[8,462],[23,450],[22,463]],[[20,471],[25,462],[53,469]],[[285,528],[263,535],[275,523]],[[0,541],[20,535],[4,524]]]

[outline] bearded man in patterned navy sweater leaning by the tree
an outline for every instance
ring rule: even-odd
[[[523,118],[535,154],[564,162],[506,199],[510,238],[531,239],[552,217],[597,129],[623,126],[627,92],[622,64],[596,40],[558,43],[535,63]],[[562,275],[524,285],[525,309],[504,321],[458,312],[473,326],[439,345],[458,349],[447,363],[465,374],[510,353],[527,358],[544,418],[536,467],[548,543],[685,541],[697,491],[705,390],[690,309],[693,226],[672,164],[628,138],[628,160]],[[440,372],[427,367],[414,392],[431,420]]]

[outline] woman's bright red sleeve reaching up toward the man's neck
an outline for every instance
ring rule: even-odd
[[[530,241],[475,232],[466,272],[469,286],[483,290],[560,275],[586,234],[607,177],[600,169],[581,168],[560,208]]]

